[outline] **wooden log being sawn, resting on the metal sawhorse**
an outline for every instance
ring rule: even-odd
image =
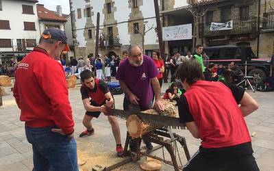
[[[164,103],[164,111],[161,111],[161,114],[164,116],[176,116],[175,111],[175,104],[173,101],[162,101]],[[142,113],[147,114],[153,114],[158,115],[158,111],[155,109],[148,109],[145,111],[142,111]],[[159,129],[161,126],[155,125],[155,124],[148,124],[142,122],[142,120],[139,118],[139,116],[135,115],[134,113],[127,118],[127,131],[129,132],[129,135],[134,138],[142,137],[142,135],[145,135],[146,133],[149,133],[151,131],[154,131],[155,129]]]

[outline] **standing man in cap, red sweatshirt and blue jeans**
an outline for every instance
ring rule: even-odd
[[[14,97],[32,144],[34,170],[78,170],[69,93],[57,61],[68,50],[64,31],[49,28],[16,69]]]

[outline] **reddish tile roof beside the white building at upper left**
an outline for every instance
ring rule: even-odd
[[[57,21],[57,22],[66,22],[66,17],[58,16],[56,12],[48,10],[42,4],[37,4],[37,14],[38,18],[41,21]]]

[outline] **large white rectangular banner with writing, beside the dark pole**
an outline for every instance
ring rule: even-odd
[[[192,39],[192,24],[163,27],[162,31],[164,41]]]

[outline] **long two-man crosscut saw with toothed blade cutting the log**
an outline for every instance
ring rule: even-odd
[[[110,115],[117,116],[118,118],[122,118],[124,120],[126,120],[132,114],[139,116],[142,122],[157,124],[159,126],[168,127],[172,129],[186,129],[186,124],[180,123],[179,118],[147,114],[147,113],[142,113],[140,111],[125,111],[121,109],[110,110]]]

